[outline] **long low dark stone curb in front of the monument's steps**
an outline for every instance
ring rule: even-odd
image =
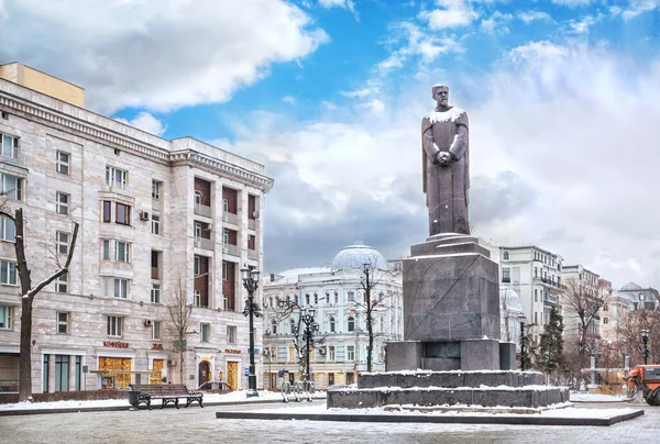
[[[399,422],[436,424],[505,424],[505,425],[600,425],[607,426],[641,417],[644,410],[610,418],[541,418],[541,417],[432,417],[428,414],[383,415],[351,413],[262,413],[262,412],[216,412],[217,419],[233,420],[295,420],[295,421],[336,421],[336,422]]]

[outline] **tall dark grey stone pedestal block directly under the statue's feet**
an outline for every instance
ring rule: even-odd
[[[404,338],[419,342],[421,356],[418,348],[409,352],[415,358],[405,367],[404,353],[393,356],[388,347],[388,369],[499,369],[499,276],[490,252],[475,237],[439,234],[410,253],[404,260]]]

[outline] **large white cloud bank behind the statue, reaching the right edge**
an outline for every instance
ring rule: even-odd
[[[549,42],[513,49],[480,78],[419,75],[384,113],[358,106],[345,120],[245,135],[232,149],[276,180],[267,267],[321,264],[356,238],[400,257],[426,236],[419,122],[437,80],[470,113],[476,235],[536,244],[615,285],[660,284],[660,62],[631,70],[620,55]]]

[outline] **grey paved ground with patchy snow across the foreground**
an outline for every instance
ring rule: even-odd
[[[315,401],[314,404],[324,401]],[[293,404],[300,407],[302,404]],[[292,407],[293,407],[292,406]],[[284,403],[1,417],[8,443],[652,443],[660,436],[660,408],[642,403],[578,408],[644,408],[646,414],[612,426],[385,424],[311,421],[219,420],[220,410],[286,408]]]

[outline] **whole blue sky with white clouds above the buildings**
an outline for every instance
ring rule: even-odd
[[[0,63],[255,159],[264,268],[428,234],[430,88],[470,115],[473,234],[660,287],[660,0],[0,0]]]

